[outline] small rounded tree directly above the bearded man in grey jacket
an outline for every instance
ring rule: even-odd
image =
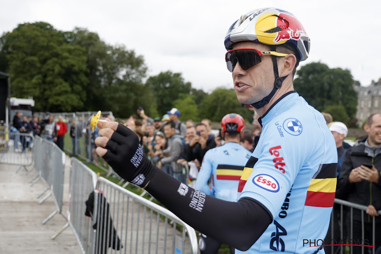
[[[173,102],[173,107],[180,110],[180,120],[199,120],[199,109],[196,105],[196,98],[192,94],[180,94],[179,98]]]

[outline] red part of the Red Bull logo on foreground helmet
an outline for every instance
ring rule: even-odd
[[[274,39],[275,44],[281,41],[298,40],[302,33],[305,33],[304,27],[292,14],[280,13],[276,18],[276,27],[282,30],[278,31]]]

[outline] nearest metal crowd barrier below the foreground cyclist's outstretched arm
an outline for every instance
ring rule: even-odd
[[[169,210],[103,177],[97,189],[93,253],[198,253],[195,230]]]

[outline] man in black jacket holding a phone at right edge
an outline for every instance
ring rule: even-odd
[[[361,211],[353,211],[353,239],[375,238],[375,247],[381,246],[381,216],[374,211],[381,210],[381,114],[368,117],[364,130],[368,134],[365,140],[345,152],[339,175],[338,191],[345,192],[347,201],[368,206],[367,214],[361,217]],[[364,165],[365,164],[365,165]],[[368,164],[368,165],[367,165]],[[372,216],[375,218],[375,236],[372,235]],[[350,219],[347,214],[347,219]],[[364,221],[364,238],[362,225]],[[347,226],[350,229],[349,225]],[[350,232],[348,232],[349,234]],[[360,247],[353,248],[361,253]],[[367,251],[365,251],[367,252]]]

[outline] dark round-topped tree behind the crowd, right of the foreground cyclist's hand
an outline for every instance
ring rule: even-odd
[[[179,98],[179,94],[190,92],[192,84],[185,82],[181,73],[167,71],[149,77],[145,87],[154,92],[158,112],[165,114],[173,108],[173,102]]]

